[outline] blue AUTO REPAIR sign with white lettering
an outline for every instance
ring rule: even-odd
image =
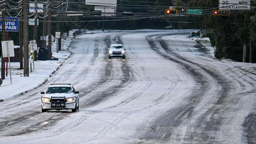
[[[5,31],[19,31],[18,17],[5,17]],[[2,17],[0,17],[0,31],[2,31]]]

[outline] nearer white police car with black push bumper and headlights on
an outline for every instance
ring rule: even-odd
[[[42,112],[47,110],[79,111],[79,92],[71,84],[50,84],[41,97]]]

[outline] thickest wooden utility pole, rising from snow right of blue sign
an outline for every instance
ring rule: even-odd
[[[24,44],[24,77],[29,77],[28,64],[28,0],[23,0],[23,44]]]

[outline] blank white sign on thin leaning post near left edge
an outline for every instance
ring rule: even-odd
[[[3,57],[8,57],[9,59],[10,79],[12,84],[10,57],[14,57],[13,41],[2,41],[2,53],[3,53]]]

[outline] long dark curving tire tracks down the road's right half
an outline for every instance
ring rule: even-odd
[[[170,34],[169,34],[169,35],[170,35]],[[157,35],[153,35],[153,36],[157,36]],[[162,35],[162,36],[164,36],[164,35]],[[170,57],[168,57],[167,55],[165,55],[164,53],[160,52],[160,51],[157,49],[157,47],[156,47],[156,45],[154,44],[154,42],[151,40],[151,37],[152,37],[152,36],[147,37],[147,40],[148,40],[148,43],[150,44],[150,46],[151,46],[151,48],[152,48],[153,50],[155,50],[157,53],[159,53],[159,54],[162,55],[163,57],[165,57],[165,58],[170,59],[170,60],[172,60],[172,61],[174,61],[174,62],[176,62],[176,63],[179,63],[179,64],[183,65],[188,71],[190,71],[190,72],[191,72],[191,70],[193,71],[193,69],[192,69],[188,64],[185,64],[185,63],[181,62],[180,60],[176,60],[176,59],[170,58]],[[217,82],[218,85],[221,85],[222,88],[224,89],[222,92],[219,93],[221,96],[220,96],[219,100],[217,101],[217,103],[215,104],[215,106],[213,106],[210,110],[208,110],[207,112],[205,112],[202,117],[200,117],[200,118],[202,118],[202,120],[199,121],[199,123],[197,123],[197,124],[195,125],[195,128],[196,128],[196,129],[199,129],[200,127],[202,127],[201,123],[202,123],[203,121],[205,122],[206,116],[207,116],[211,111],[213,111],[214,108],[216,108],[216,106],[219,105],[219,104],[222,102],[223,98],[227,95],[227,93],[228,93],[227,90],[226,90],[227,85],[226,85],[226,84],[223,84],[223,83],[221,82],[221,81],[223,80],[222,77],[219,77],[218,75],[212,73],[211,71],[209,71],[208,69],[202,67],[201,65],[198,65],[198,64],[193,63],[193,62],[191,62],[191,61],[188,61],[188,60],[182,58],[181,56],[177,55],[176,53],[170,51],[170,50],[168,49],[167,44],[165,44],[165,42],[164,42],[163,40],[159,39],[160,37],[161,37],[161,36],[158,36],[158,37],[157,37],[157,40],[158,40],[158,42],[160,43],[161,47],[162,47],[167,53],[171,54],[172,56],[177,57],[178,59],[181,59],[181,60],[183,60],[183,61],[186,61],[186,62],[188,62],[188,63],[194,64],[194,65],[200,67],[203,71],[205,71],[206,73],[208,73],[208,74]],[[206,80],[206,78],[204,78],[201,74],[199,74],[199,73],[197,73],[197,72],[195,72],[195,71],[192,72],[191,74],[192,74],[192,77],[194,77],[194,78],[202,78],[202,79]],[[195,79],[195,81],[198,81],[198,80]],[[199,82],[199,81],[198,81],[198,82]],[[207,85],[208,85],[207,82],[204,82],[204,84],[201,85],[202,89],[206,89],[206,88],[207,88]],[[194,94],[193,94],[193,93],[194,93]],[[177,127],[182,123],[183,120],[188,119],[189,117],[191,117],[191,115],[192,115],[192,113],[193,113],[193,111],[194,111],[194,108],[195,108],[194,105],[199,104],[201,97],[197,97],[197,96],[193,96],[193,95],[195,95],[195,94],[198,95],[198,93],[199,93],[199,95],[205,95],[205,94],[206,94],[206,92],[195,92],[195,91],[194,91],[193,93],[192,93],[192,95],[191,95],[192,98],[189,100],[190,103],[189,103],[188,105],[186,105],[185,107],[177,108],[177,109],[171,109],[171,110],[169,110],[169,111],[167,112],[168,115],[165,115],[165,116],[162,116],[162,117],[158,118],[158,119],[156,120],[156,123],[154,124],[153,129],[151,130],[151,132],[148,132],[147,134],[145,134],[145,139],[151,139],[150,137],[154,137],[154,134],[157,132],[157,130],[160,131],[160,135],[159,135],[159,137],[156,137],[156,136],[155,136],[156,139],[160,139],[160,138],[161,138],[161,139],[167,140],[171,135],[173,135],[173,132],[174,132],[175,127],[177,128]],[[177,111],[178,111],[178,112],[177,112]],[[216,111],[214,111],[213,113],[215,113],[215,112],[216,112]],[[173,115],[172,117],[170,117],[170,114],[174,114],[174,115]],[[213,117],[211,117],[210,119],[213,119]],[[221,120],[221,118],[220,118],[220,120]],[[218,121],[218,122],[219,122],[219,121]],[[160,124],[160,126],[159,126],[159,123],[161,123],[161,124],[163,124],[163,125],[161,126],[161,124]],[[212,124],[212,123],[211,123],[211,124]],[[211,124],[210,124],[210,125],[211,125]],[[220,124],[220,123],[219,123],[219,124]],[[155,128],[154,128],[154,127],[155,127]],[[160,128],[159,128],[159,127],[160,127]],[[162,128],[161,128],[161,127],[162,127]],[[204,130],[206,130],[206,131],[211,131],[211,130],[212,130],[212,127],[209,127],[209,123],[206,123],[206,126],[205,126]],[[159,132],[158,132],[158,134],[159,134]],[[187,137],[188,137],[188,139],[185,139],[185,138],[184,138],[184,140],[191,142],[195,136],[197,136],[197,133],[196,133],[196,132],[187,131]],[[191,140],[191,138],[192,138],[192,140]],[[204,135],[204,136],[202,136],[202,139],[201,139],[201,140],[203,140],[203,141],[208,141],[208,139],[209,139],[209,136],[208,136],[208,135]]]

